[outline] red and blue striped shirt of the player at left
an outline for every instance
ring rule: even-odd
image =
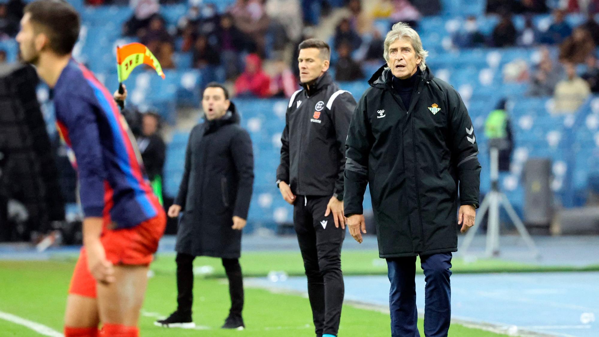
[[[71,60],[54,88],[56,123],[72,149],[86,217],[129,228],[158,215],[137,145],[108,90]]]

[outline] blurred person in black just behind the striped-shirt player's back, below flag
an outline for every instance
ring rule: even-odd
[[[137,146],[141,152],[146,174],[150,179],[154,194],[160,204],[162,200],[162,169],[166,157],[167,146],[160,136],[161,118],[158,113],[147,112],[143,114],[141,135],[137,137]]]

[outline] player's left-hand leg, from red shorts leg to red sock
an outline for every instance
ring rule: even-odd
[[[96,281],[87,269],[85,249],[81,249],[66,298],[65,337],[95,337],[98,324]]]

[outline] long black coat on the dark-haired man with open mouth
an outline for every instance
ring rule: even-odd
[[[175,200],[183,209],[175,250],[240,257],[241,231],[231,228],[232,217],[247,219],[253,180],[252,140],[231,103],[223,118],[196,125],[189,136]]]

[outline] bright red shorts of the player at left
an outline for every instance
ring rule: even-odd
[[[164,212],[132,228],[109,230],[104,228],[100,238],[111,263],[147,266],[158,249],[158,241],[164,234],[167,217]],[[69,294],[96,297],[96,280],[87,268],[85,248],[81,248],[79,259],[69,287]]]

